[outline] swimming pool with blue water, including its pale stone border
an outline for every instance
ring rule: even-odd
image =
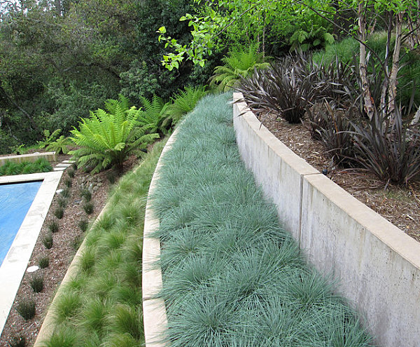
[[[16,292],[18,292],[20,282],[27,269],[34,245],[38,239],[44,219],[48,214],[52,198],[54,198],[55,191],[57,191],[64,167],[57,170],[30,175],[0,177],[0,188],[2,190],[17,189],[11,196],[1,193],[0,199],[3,203],[0,204],[0,224],[6,223],[10,225],[10,229],[18,227],[17,232],[11,232],[8,227],[6,228],[4,240],[6,238],[12,239],[11,245],[7,247],[5,245],[10,243],[10,240],[3,242],[3,228],[0,227],[0,252],[2,254],[1,257],[3,257],[3,261],[0,264],[0,334],[3,331],[8,313],[15,300]],[[18,186],[15,186],[15,184],[23,185],[17,188]],[[37,185],[38,187],[36,187]],[[23,202],[22,196],[25,196],[26,203]],[[31,200],[33,201],[28,202],[28,196],[32,196]],[[8,207],[13,205],[13,201],[22,203],[19,208],[26,210],[26,212],[21,211],[20,217],[8,216]],[[3,254],[5,250],[6,255]]]

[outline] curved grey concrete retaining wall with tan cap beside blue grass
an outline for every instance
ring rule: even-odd
[[[279,219],[311,263],[339,279],[375,342],[420,346],[420,243],[294,154],[244,102],[233,121],[241,157]]]

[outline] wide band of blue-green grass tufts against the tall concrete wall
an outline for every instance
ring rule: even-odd
[[[370,346],[335,283],[307,264],[244,168],[231,95],[205,97],[162,158],[160,219],[171,347]],[[287,196],[284,197],[287,199]]]

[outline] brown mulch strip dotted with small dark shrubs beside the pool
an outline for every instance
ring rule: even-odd
[[[52,164],[61,163],[68,158],[69,156],[59,156],[57,162]],[[131,170],[137,163],[138,160],[135,156],[130,157],[124,163],[124,172]],[[66,173],[67,170],[62,175],[58,189],[63,189],[65,186],[64,181],[69,177]],[[84,235],[78,223],[83,219],[88,219],[90,222],[94,221],[106,203],[106,198],[112,186],[109,179],[107,179],[109,172],[110,170],[100,172],[96,175],[90,175],[89,173],[83,172],[83,170],[77,170],[75,172],[76,175],[72,179],[71,194],[62,219],[57,219],[53,215],[57,207],[57,194],[55,195],[38,240],[36,241],[28,267],[38,265],[38,259],[45,256],[49,257],[50,264],[47,268],[40,268],[35,273],[25,273],[8,315],[8,320],[0,336],[0,347],[9,347],[9,342],[20,336],[25,337],[27,342],[26,346],[32,346],[35,343],[48,306],[54,298],[57,287],[64,278],[67,268],[76,254],[76,250],[82,243]],[[84,200],[80,197],[79,193],[83,187],[89,188],[92,191],[91,202],[94,205],[94,212],[91,215],[86,215],[83,210]],[[42,239],[48,234],[48,224],[52,220],[57,220],[59,230],[57,233],[52,234],[53,245],[50,250],[47,250],[42,243]],[[29,285],[29,281],[34,274],[41,274],[44,278],[44,287],[40,293],[34,293],[34,290]],[[24,298],[34,299],[36,302],[36,315],[31,320],[24,320],[18,311],[16,311],[17,303]]]

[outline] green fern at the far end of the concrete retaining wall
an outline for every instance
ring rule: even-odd
[[[223,57],[224,65],[215,67],[214,75],[210,78],[210,87],[223,92],[230,90],[239,83],[241,76],[251,76],[254,69],[267,69],[269,63],[263,60],[262,53],[258,53],[256,45],[247,49],[232,50],[227,57]]]

